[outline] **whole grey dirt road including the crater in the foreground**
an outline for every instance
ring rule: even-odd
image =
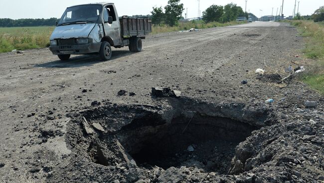
[[[324,97],[277,82],[311,64],[294,56],[303,45],[288,24],[255,22],[150,35],[105,62],[0,54],[0,182],[321,182]]]

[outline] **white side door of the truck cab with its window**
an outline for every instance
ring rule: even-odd
[[[105,6],[103,13],[104,16],[113,17],[112,24],[104,23],[105,36],[112,38],[115,46],[121,45],[122,37],[120,31],[120,23],[115,7],[113,5],[107,5]]]

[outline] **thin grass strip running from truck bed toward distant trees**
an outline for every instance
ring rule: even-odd
[[[161,25],[161,26],[153,26],[152,27],[152,34],[158,34],[158,33],[163,33],[163,32],[175,32],[175,31],[180,31],[180,30],[189,30],[191,28],[196,28],[196,29],[204,29],[204,28],[212,28],[212,27],[224,27],[228,25],[236,25],[236,24],[242,24],[245,22],[236,22],[236,21],[231,21],[231,22],[226,22],[226,23],[219,23],[219,22],[209,22],[209,23],[204,23],[202,20],[193,20],[193,21],[188,21],[188,22],[180,22],[178,26],[166,26],[166,25]]]

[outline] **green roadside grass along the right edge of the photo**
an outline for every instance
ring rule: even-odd
[[[308,68],[307,72],[300,75],[299,79],[324,95],[324,22],[293,20],[291,24],[296,26],[304,37],[305,56],[316,61],[312,68]]]

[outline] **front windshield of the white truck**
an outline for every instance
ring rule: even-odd
[[[99,4],[87,4],[68,7],[63,13],[57,26],[77,23],[96,23],[102,6]]]

